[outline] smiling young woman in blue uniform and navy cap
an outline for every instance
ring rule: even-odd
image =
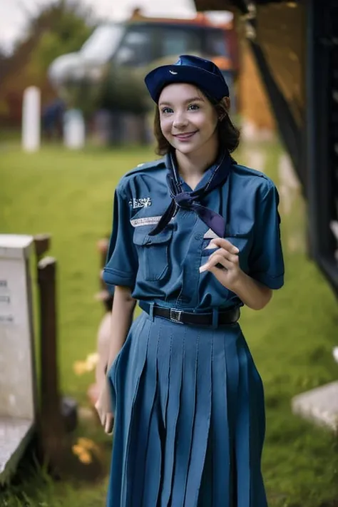
[[[108,433],[115,418],[107,506],[265,507],[262,381],[237,321],[283,285],[277,190],[230,156],[239,133],[217,66],[181,56],[145,83],[164,158],[116,188],[97,404]]]

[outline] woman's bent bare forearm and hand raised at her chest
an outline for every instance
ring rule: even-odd
[[[264,308],[272,298],[272,290],[257,282],[240,269],[239,250],[229,241],[215,238],[208,248],[218,247],[210,255],[208,262],[200,267],[200,272],[210,271],[227,289],[235,292],[241,301],[255,310]]]

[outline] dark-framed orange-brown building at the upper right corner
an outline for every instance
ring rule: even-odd
[[[309,253],[338,294],[338,1],[195,5],[231,9],[245,31],[307,200]]]

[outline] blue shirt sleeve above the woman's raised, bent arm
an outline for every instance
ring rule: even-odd
[[[284,260],[280,238],[280,198],[277,188],[269,182],[257,200],[255,237],[250,252],[250,276],[270,289],[284,285]]]

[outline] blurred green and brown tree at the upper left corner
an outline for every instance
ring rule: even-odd
[[[64,53],[78,51],[93,31],[91,9],[78,0],[57,0],[29,18],[24,38],[11,56],[0,51],[0,123],[19,126],[24,89],[39,86],[43,104],[55,98],[47,78],[50,63]]]

